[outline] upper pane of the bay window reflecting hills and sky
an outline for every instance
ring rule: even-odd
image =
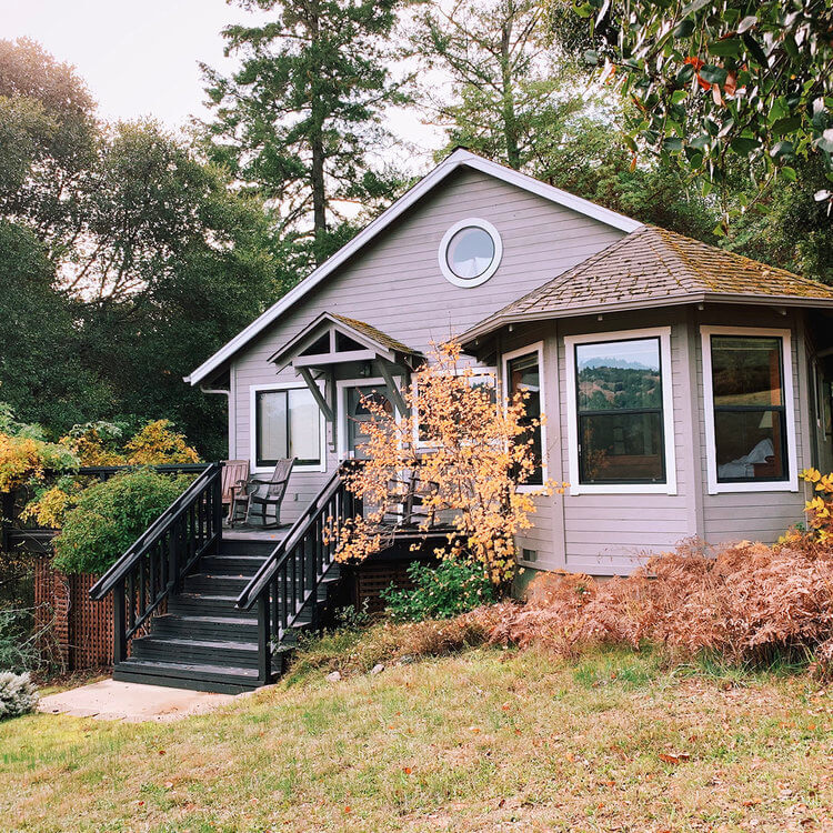
[[[578,344],[579,410],[662,408],[660,340]]]

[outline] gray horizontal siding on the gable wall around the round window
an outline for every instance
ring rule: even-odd
[[[442,277],[438,249],[449,227],[469,217],[498,228],[503,258],[489,281],[462,289]],[[424,351],[432,341],[464,331],[621,237],[616,229],[480,172],[456,174],[235,358],[231,455],[250,456],[250,387],[295,381],[292,371],[275,377],[269,357],[322,311],[360,319]],[[332,426],[328,433],[332,471],[337,438]],[[314,496],[327,476],[293,475],[284,503],[287,520]]]

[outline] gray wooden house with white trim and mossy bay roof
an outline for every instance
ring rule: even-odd
[[[830,310],[829,287],[456,150],[188,381],[228,391],[230,456],[299,458],[291,520],[355,452],[361,392],[393,400],[455,338],[534,391],[539,478],[570,483],[523,563],[622,574],[802,519],[799,471],[833,468]]]

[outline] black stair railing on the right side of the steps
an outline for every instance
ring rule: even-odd
[[[272,676],[274,648],[308,602],[314,602],[335,554],[334,533],[345,519],[361,512],[342,473],[337,470],[238,596],[241,610],[258,605],[258,675],[264,682]]]

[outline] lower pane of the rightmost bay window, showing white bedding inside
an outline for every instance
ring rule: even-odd
[[[717,480],[784,480],[781,411],[715,411]]]

